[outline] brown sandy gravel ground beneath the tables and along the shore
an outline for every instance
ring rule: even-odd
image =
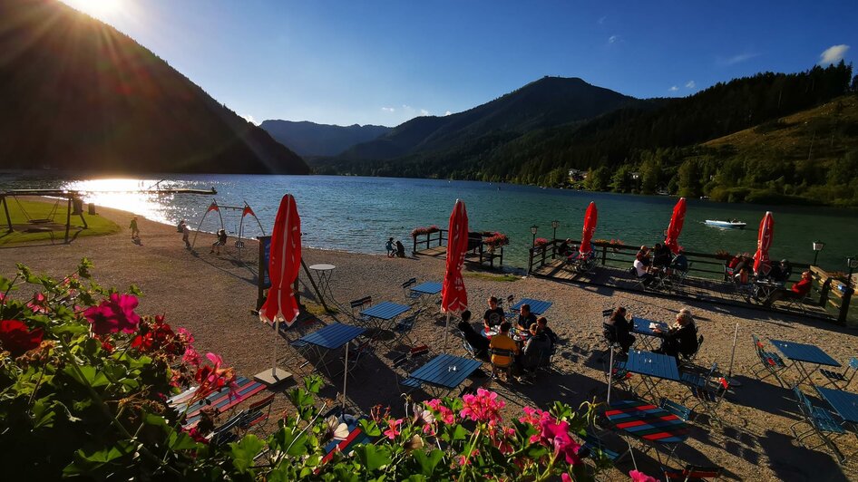
[[[83,237],[70,245],[0,248],[0,275],[14,275],[15,263],[30,265],[37,272],[49,275],[65,275],[73,271],[80,258],[86,256],[93,260],[93,275],[100,283],[119,288],[130,284],[140,286],[144,296],[139,313],[166,313],[173,326],[184,326],[194,333],[200,352],[218,352],[240,374],[252,376],[270,368],[274,343],[278,346],[281,367],[297,375],[314,371],[314,363],[305,363],[304,358],[288,349],[287,340],[275,336],[268,325],[260,323],[258,317],[251,313],[257,299],[257,249],[254,243],[247,243],[248,247],[240,258],[234,246],[228,246],[221,255],[211,255],[209,246],[214,236],[200,234],[196,250],[187,250],[175,227],[141,219],[141,243],[138,245],[132,243],[127,229],[131,215],[106,208],[100,208],[99,213],[122,226],[122,233]],[[405,303],[405,295],[400,288],[403,281],[410,277],[416,277],[420,282],[441,281],[444,274],[443,260],[426,257],[391,259],[384,254],[359,255],[305,249],[304,258],[307,265],[336,265],[331,288],[336,302],[346,305],[349,300],[365,295],[372,295],[376,301]],[[502,282],[476,274],[468,271],[465,275],[475,321],[481,318],[485,300],[492,294],[549,300],[554,304],[545,315],[563,340],[555,363],[557,371],[541,373],[532,384],[492,383],[484,377],[466,381],[466,384],[490,386],[497,390],[507,400],[510,417],[517,417],[521,407],[526,405],[548,408],[553,400],[562,400],[573,406],[594,398],[605,400],[605,364],[599,360],[604,346],[600,334],[603,309],[624,305],[630,313],[670,321],[686,305],[609,288],[561,284],[536,278]],[[318,313],[316,296],[312,294],[307,276],[301,273],[300,280],[304,301],[311,311]],[[845,363],[858,354],[856,332],[834,324],[789,319],[781,314],[753,309],[695,304],[690,308],[695,314],[699,332],[705,336],[697,357],[697,363],[703,366],[717,362],[723,371],[727,371],[734,328],[738,323],[733,374],[742,386],[729,393],[719,407],[724,426],[710,426],[706,416],[698,418],[691,437],[678,448],[677,458],[697,465],[722,466],[726,468],[726,478],[729,479],[858,479],[858,462],[854,459],[841,467],[824,448],[811,450],[795,443],[789,430],[789,426],[798,419],[792,392],[781,388],[771,378],[758,381],[754,377],[758,360],[751,343],[752,333],[766,341],[772,338],[812,342],[834,359]],[[443,349],[444,317],[437,313],[437,308],[432,312],[420,317],[412,338],[429,345],[433,352],[440,352]],[[308,317],[308,320],[297,323],[288,337],[315,330],[320,323],[352,323],[342,312]],[[464,354],[457,338],[451,336],[448,344],[448,351]],[[395,346],[391,350],[379,346],[374,356],[364,360],[354,378],[349,380],[347,393],[350,403],[361,410],[369,410],[380,403],[391,406],[394,413],[402,412],[402,399],[391,366],[397,349],[405,347]],[[487,364],[483,365],[483,370],[489,371]],[[786,373],[787,380],[795,380],[795,371],[792,370]],[[323,395],[334,399],[341,383],[341,379],[328,381]],[[292,384],[282,384],[276,390],[288,390]],[[660,383],[658,390],[673,400],[682,400],[688,394],[686,388],[672,381]],[[811,390],[804,387],[806,393]],[[858,390],[858,381],[853,382],[851,390]],[[619,391],[612,396],[629,395]],[[418,391],[414,397],[419,399],[425,394]],[[824,406],[823,401],[818,403]],[[286,397],[278,396],[275,410],[288,410],[289,407]],[[266,429],[272,427],[274,424],[268,423]],[[606,441],[611,448],[624,447],[621,439],[609,437]],[[841,439],[840,447],[847,454],[858,450],[853,435]],[[636,451],[635,459],[639,468],[658,474],[658,462],[653,451],[646,455]],[[607,478],[625,479],[623,473],[630,468],[630,459],[626,458],[619,464],[619,470],[613,470]]]

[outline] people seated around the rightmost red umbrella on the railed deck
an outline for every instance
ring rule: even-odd
[[[730,276],[731,281],[738,286],[755,286],[756,289],[747,292],[748,297],[755,298],[756,302],[765,306],[771,306],[778,300],[802,300],[810,293],[814,278],[809,270],[804,271],[801,279],[789,289],[785,288],[784,284],[792,273],[793,267],[786,259],[778,263],[765,263],[756,273],[754,258],[747,253],[733,256],[725,265],[725,275]],[[760,289],[761,285],[770,289]]]

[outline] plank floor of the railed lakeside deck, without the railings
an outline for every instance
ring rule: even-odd
[[[736,292],[734,284],[717,279],[689,276],[685,283],[677,289],[643,289],[636,287],[638,280],[629,274],[628,269],[597,265],[590,273],[580,274],[575,272],[571,266],[564,264],[561,259],[546,260],[544,265],[533,266],[531,275],[562,283],[590,284],[658,297],[741,306],[776,313],[799,314],[824,320],[834,319],[831,314],[825,312],[824,307],[815,304],[804,304],[804,313],[802,313],[795,308],[787,309],[784,302],[777,302],[772,307],[765,307],[756,303],[755,300],[749,302],[742,294]]]

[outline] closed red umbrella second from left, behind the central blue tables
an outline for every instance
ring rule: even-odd
[[[464,288],[462,266],[464,253],[468,250],[468,211],[464,203],[456,199],[450,226],[447,230],[447,263],[444,284],[441,286],[441,310],[447,313],[447,328],[444,329],[444,350],[447,348],[447,332],[450,312],[462,312],[468,308],[468,292]]]

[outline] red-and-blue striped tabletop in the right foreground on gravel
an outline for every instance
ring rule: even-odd
[[[659,443],[680,443],[688,438],[685,420],[643,400],[612,401],[605,417],[617,429],[639,439]]]

